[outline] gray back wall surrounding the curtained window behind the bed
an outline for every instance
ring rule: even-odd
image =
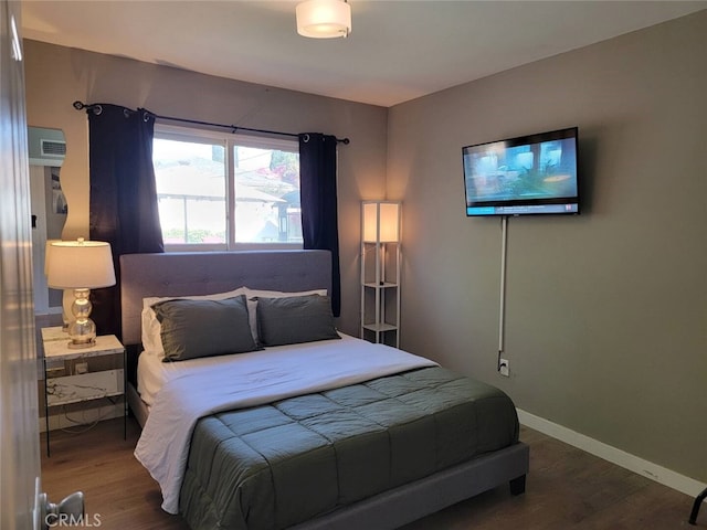
[[[68,202],[64,239],[88,233],[88,126],[72,103],[114,103],[166,116],[285,132],[348,137],[339,146],[340,327],[358,333],[359,212],[384,195],[388,110],[281,88],[213,77],[125,57],[25,41],[28,123],[63,129],[62,188]]]

